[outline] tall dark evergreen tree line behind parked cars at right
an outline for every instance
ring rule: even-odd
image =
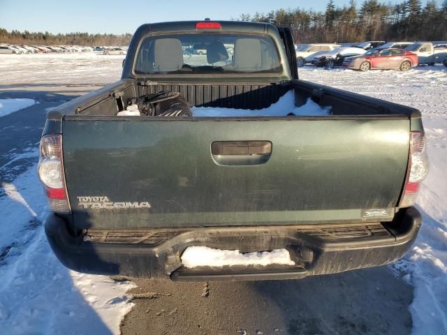
[[[447,0],[381,3],[356,0],[337,7],[329,0],[324,12],[301,8],[242,14],[237,20],[289,27],[295,43],[349,43],[363,40],[447,40]]]

